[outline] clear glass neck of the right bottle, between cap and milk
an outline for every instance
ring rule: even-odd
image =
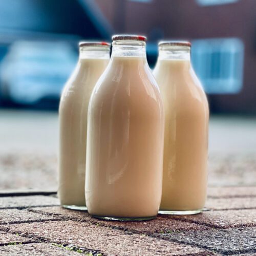
[[[190,47],[159,47],[158,59],[190,61]]]

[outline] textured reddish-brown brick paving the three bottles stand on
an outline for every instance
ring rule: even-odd
[[[97,220],[34,194],[0,193],[0,255],[256,254],[253,186],[212,187],[203,214],[145,222]]]

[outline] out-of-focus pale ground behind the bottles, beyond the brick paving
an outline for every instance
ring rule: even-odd
[[[0,142],[0,190],[57,189],[56,112],[0,110]],[[256,117],[210,118],[209,185],[256,185]]]

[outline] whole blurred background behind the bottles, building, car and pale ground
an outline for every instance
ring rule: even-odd
[[[0,0],[0,190],[56,190],[58,103],[79,40],[192,42],[210,105],[209,184],[256,184],[255,0]]]

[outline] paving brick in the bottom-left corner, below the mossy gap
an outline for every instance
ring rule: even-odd
[[[81,255],[79,252],[60,248],[52,244],[19,244],[0,247],[0,255]]]

